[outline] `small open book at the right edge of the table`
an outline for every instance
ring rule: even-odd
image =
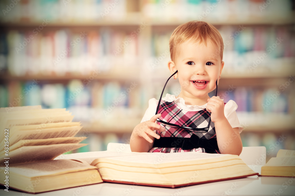
[[[293,177],[295,175],[295,150],[279,150],[261,167],[262,176]]]

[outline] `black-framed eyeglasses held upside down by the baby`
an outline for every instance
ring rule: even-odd
[[[178,71],[176,71],[174,74],[172,74],[168,80],[174,76]],[[168,82],[168,80],[166,81],[165,85],[164,85],[164,88],[163,88],[163,91],[161,93],[161,97],[159,99],[159,103],[158,103],[158,106],[157,106],[157,110],[156,110],[156,114],[158,114],[158,110],[159,110],[159,107],[160,107],[160,103],[161,103],[161,99],[162,99],[162,95],[163,95],[163,92],[164,92],[164,89],[166,87],[166,84]],[[216,80],[216,93],[215,93],[215,96],[217,97],[217,80]],[[156,115],[155,114],[155,115]],[[210,123],[211,123],[211,116],[209,118],[209,123],[208,123],[208,126],[207,127],[204,127],[204,128],[192,128],[192,127],[185,127],[185,126],[180,126],[178,124],[173,124],[173,123],[169,123],[169,122],[165,122],[163,120],[160,120],[160,119],[157,119],[156,120],[157,122],[160,122],[161,124],[165,125],[165,126],[168,126],[168,127],[174,127],[174,128],[179,128],[179,129],[185,129],[185,130],[188,130],[188,131],[191,131],[191,132],[199,132],[199,133],[206,133],[209,131],[209,127],[210,127]]]

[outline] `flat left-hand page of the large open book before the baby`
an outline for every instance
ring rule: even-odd
[[[97,152],[81,152],[81,153],[73,153],[73,154],[67,154],[67,155],[59,155],[58,157],[55,158],[57,159],[72,159],[72,160],[84,160],[86,161],[89,165],[96,165],[94,160],[98,158],[105,158],[105,157],[116,157],[116,156],[128,156],[128,155],[135,155],[135,154],[140,154],[141,152],[111,152],[111,151],[97,151]],[[92,163],[94,162],[94,163]]]

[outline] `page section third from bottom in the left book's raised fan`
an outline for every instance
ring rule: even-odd
[[[81,126],[73,127],[58,127],[39,130],[27,130],[21,132],[14,132],[13,129],[9,129],[9,144],[13,145],[19,140],[23,139],[47,139],[57,137],[74,137],[81,129]],[[4,150],[4,140],[0,142],[0,150]]]

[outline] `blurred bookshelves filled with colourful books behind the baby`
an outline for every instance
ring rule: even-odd
[[[0,1],[0,107],[67,108],[88,136],[75,152],[129,143],[170,76],[169,38],[207,21],[224,41],[218,95],[238,104],[243,146],[295,150],[291,0]],[[166,93],[178,95],[170,81]]]

